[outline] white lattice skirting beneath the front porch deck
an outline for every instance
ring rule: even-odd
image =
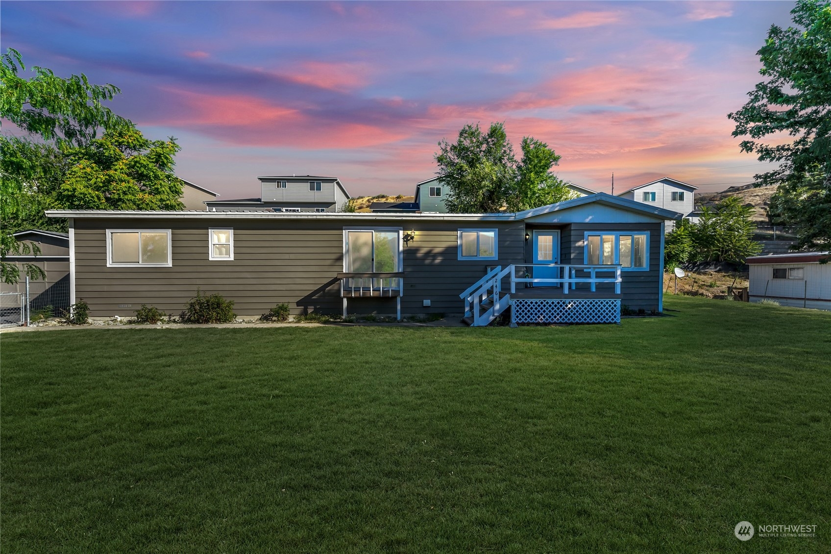
[[[514,299],[517,323],[620,323],[620,300]]]

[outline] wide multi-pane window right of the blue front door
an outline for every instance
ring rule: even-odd
[[[647,271],[649,233],[587,231],[583,259],[588,266],[620,265],[624,271]]]

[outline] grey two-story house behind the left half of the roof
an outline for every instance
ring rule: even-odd
[[[340,212],[349,193],[337,177],[273,175],[258,177],[258,199],[209,200],[209,211]]]

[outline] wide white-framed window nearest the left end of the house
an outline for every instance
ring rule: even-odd
[[[107,229],[107,267],[171,267],[170,229]]]

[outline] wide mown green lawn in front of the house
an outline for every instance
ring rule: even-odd
[[[831,313],[666,308],[3,335],[0,547],[829,552]]]

